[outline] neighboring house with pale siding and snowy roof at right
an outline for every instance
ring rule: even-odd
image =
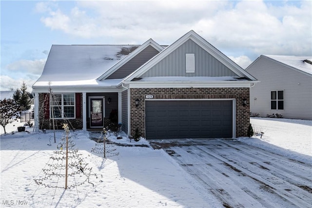
[[[312,120],[311,56],[261,55],[246,71],[260,81],[250,89],[252,113]]]

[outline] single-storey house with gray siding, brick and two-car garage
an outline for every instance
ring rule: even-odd
[[[146,139],[246,136],[255,83],[193,30],[169,46],[53,45],[33,85],[35,126],[113,121]]]

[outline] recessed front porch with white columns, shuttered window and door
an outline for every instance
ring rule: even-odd
[[[37,95],[36,95],[37,94]],[[39,129],[62,129],[64,123],[73,129],[93,130],[121,123],[121,93],[118,92],[82,92],[82,93],[36,93],[35,126]],[[61,99],[55,100],[55,95]],[[69,101],[64,95],[73,95]],[[58,108],[55,104],[58,104]],[[38,106],[41,106],[40,109]],[[52,108],[53,106],[53,108]],[[71,110],[72,118],[67,117]],[[118,110],[119,109],[119,110]],[[53,111],[53,112],[52,112]],[[58,115],[56,115],[58,113]],[[60,116],[61,115],[61,116]],[[37,123],[37,124],[36,124]]]

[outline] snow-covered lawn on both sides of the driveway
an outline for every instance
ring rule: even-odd
[[[237,140],[312,164],[312,121],[252,118],[251,123],[255,131],[264,132],[262,138]],[[34,179],[45,176],[42,168],[51,164],[63,131],[56,133],[54,143],[53,132],[35,133],[30,127],[26,127],[30,133],[16,132],[20,125],[7,125],[7,132],[14,134],[3,135],[0,129],[1,207],[222,207],[165,151],[154,150],[144,139],[130,142],[125,135],[110,139],[147,147],[115,146],[119,154],[103,160],[91,151],[96,142],[89,139],[89,132],[71,132],[81,157],[98,178],[91,176],[90,183],[67,190],[38,186]],[[51,180],[64,186],[64,178]]]

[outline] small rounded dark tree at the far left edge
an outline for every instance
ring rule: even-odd
[[[14,100],[0,101],[0,125],[5,131],[5,126],[11,122],[11,120],[18,120],[20,118],[20,105],[15,103]]]

